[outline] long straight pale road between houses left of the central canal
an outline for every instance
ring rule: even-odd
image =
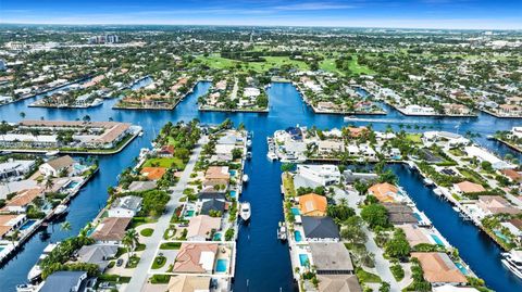
[[[169,228],[171,224],[171,217],[174,214],[174,211],[179,206],[179,199],[183,196],[183,190],[186,188],[187,182],[190,179],[190,174],[194,170],[196,162],[198,161],[199,153],[201,153],[201,144],[206,143],[207,137],[199,140],[198,145],[190,155],[190,160],[183,170],[182,177],[177,185],[172,189],[171,200],[166,203],[166,212],[161,215],[158,219],[158,223],[154,225],[154,233],[150,238],[147,238],[145,243],[147,249],[141,254],[141,259],[139,261],[138,266],[134,270],[134,275],[130,279],[130,282],[127,284],[125,291],[136,292],[141,291],[141,288],[148,279],[149,267],[152,265],[154,259],[156,251],[160,245],[160,241],[163,239],[163,233]]]

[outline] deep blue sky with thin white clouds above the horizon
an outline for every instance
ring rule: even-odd
[[[522,29],[522,0],[0,0],[0,23]]]

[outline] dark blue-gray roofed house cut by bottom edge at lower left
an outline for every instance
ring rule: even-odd
[[[86,271],[60,270],[47,277],[39,292],[84,292],[94,283],[96,279],[89,279]]]

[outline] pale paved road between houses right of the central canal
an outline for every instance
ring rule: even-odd
[[[357,205],[357,201],[360,199],[356,192],[348,192],[348,205],[352,207],[357,215],[360,215],[361,210]],[[375,270],[377,271],[378,277],[385,282],[389,283],[389,291],[391,292],[399,292],[400,288],[397,281],[394,278],[394,275],[391,275],[391,271],[389,270],[389,262],[384,258],[383,256],[383,250],[377,246],[375,241],[373,240],[374,233],[370,231],[365,226],[363,227],[364,232],[368,236],[366,243],[364,244],[366,246],[366,250],[375,255]]]

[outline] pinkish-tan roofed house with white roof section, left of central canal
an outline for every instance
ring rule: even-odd
[[[183,243],[174,261],[173,272],[208,274],[214,268],[216,243]]]

